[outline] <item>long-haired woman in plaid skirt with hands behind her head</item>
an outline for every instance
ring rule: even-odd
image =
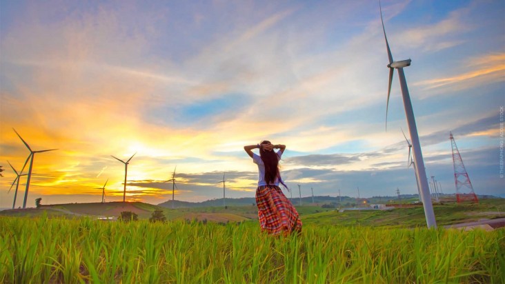
[[[259,156],[252,149],[259,148]],[[274,149],[279,149],[275,152]],[[262,141],[257,145],[244,146],[252,161],[258,165],[259,181],[256,190],[259,225],[268,234],[285,236],[290,232],[301,232],[298,212],[282,193],[279,182],[288,188],[279,173],[279,160],[286,145],[273,145]]]

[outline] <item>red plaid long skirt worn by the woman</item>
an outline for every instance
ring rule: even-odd
[[[256,190],[256,204],[261,231],[271,235],[301,232],[298,212],[276,185],[262,185]]]

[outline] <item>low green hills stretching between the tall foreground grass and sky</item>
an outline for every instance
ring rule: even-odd
[[[393,210],[344,210],[321,207],[321,205],[297,205],[294,203],[304,225],[365,225],[416,227],[425,226],[426,219],[422,205],[411,205]],[[482,199],[479,203],[443,203],[435,204],[437,225],[453,225],[478,221],[480,219],[505,218],[505,199]],[[40,216],[47,214],[50,218],[81,216],[117,217],[122,211],[135,212],[139,219],[149,219],[152,212],[162,210],[168,220],[186,219],[197,221],[212,221],[217,223],[255,221],[257,220],[256,205],[213,207],[183,207],[172,210],[168,207],[141,202],[110,202],[110,203],[68,203],[58,205],[42,205],[39,209],[4,210],[0,216]]]

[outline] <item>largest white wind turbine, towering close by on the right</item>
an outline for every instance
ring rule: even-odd
[[[391,92],[391,83],[393,82],[393,72],[395,69],[398,70],[398,77],[400,82],[400,88],[402,88],[402,97],[404,100],[405,114],[407,116],[408,131],[410,132],[410,141],[412,141],[412,150],[414,153],[414,161],[417,166],[417,177],[419,179],[419,185],[421,187],[422,201],[424,207],[424,215],[426,217],[426,225],[429,227],[437,227],[437,222],[435,221],[435,212],[433,212],[433,204],[430,199],[430,189],[428,187],[428,182],[426,181],[426,171],[424,170],[423,154],[421,151],[421,145],[419,144],[419,136],[417,134],[417,126],[415,124],[414,111],[412,109],[412,103],[410,102],[410,95],[408,94],[407,81],[405,79],[404,68],[410,66],[410,59],[402,61],[393,61],[393,55],[389,48],[388,38],[386,37],[386,29],[384,28],[384,20],[382,19],[382,7],[379,1],[379,9],[381,13],[382,30],[384,31],[384,39],[386,39],[386,48],[388,50],[389,59],[389,86],[388,86],[388,99],[386,101],[386,128],[388,123],[388,105],[389,105],[389,94]]]

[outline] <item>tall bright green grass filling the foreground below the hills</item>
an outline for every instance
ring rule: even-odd
[[[505,230],[0,217],[0,283],[505,283]]]

